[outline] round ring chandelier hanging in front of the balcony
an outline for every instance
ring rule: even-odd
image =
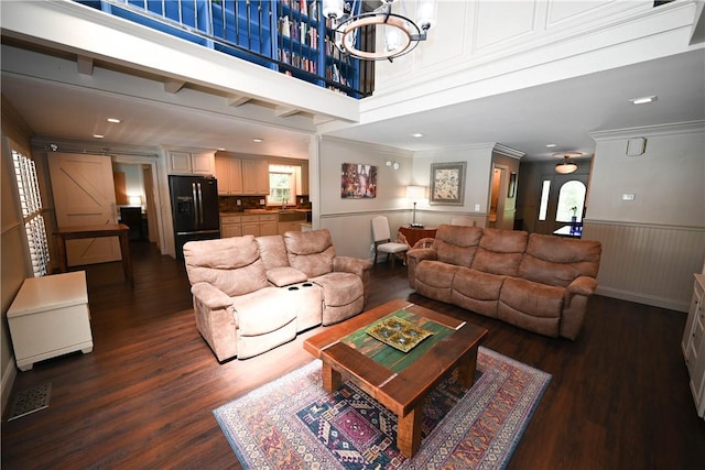
[[[416,22],[392,11],[392,4],[401,4],[402,0],[381,2],[382,4],[373,11],[349,14],[344,10],[344,0],[323,0],[323,14],[330,20],[335,33],[334,42],[341,53],[362,61],[392,62],[413,51],[420,41],[426,40],[426,32],[435,24],[435,0],[416,1]],[[355,12],[360,11],[361,6],[350,6],[350,2],[347,2],[347,7],[348,11]],[[370,29],[375,31],[375,37],[383,37],[380,51],[378,47],[366,51],[360,45],[360,35],[369,33]]]

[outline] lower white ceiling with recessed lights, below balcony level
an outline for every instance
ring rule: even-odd
[[[307,132],[234,118],[207,106],[184,107],[4,73],[1,86],[6,98],[42,136],[99,142],[106,147],[174,145],[292,157],[308,154]],[[658,96],[652,105],[628,101],[650,95]],[[240,110],[257,106],[261,103],[247,103]],[[122,122],[108,124],[110,116],[119,116]],[[498,142],[524,152],[525,160],[546,160],[560,151],[590,155],[594,131],[704,119],[705,51],[696,50],[330,134],[409,151]],[[414,139],[412,132],[423,132],[424,138]],[[97,141],[94,133],[106,138]],[[253,138],[264,142],[253,143]],[[549,143],[557,147],[546,149]]]

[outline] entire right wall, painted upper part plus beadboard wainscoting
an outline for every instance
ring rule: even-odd
[[[598,293],[686,311],[705,258],[705,123],[593,136],[583,237],[603,242]],[[627,156],[633,138],[646,151]]]

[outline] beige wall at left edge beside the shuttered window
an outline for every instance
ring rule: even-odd
[[[12,182],[12,155],[9,152],[8,140],[14,141],[26,155],[29,151],[30,130],[18,116],[10,103],[2,98],[2,167],[1,167],[1,240],[0,256],[2,259],[2,273],[0,277],[2,321],[0,323],[0,376],[2,378],[2,409],[8,402],[12,389],[12,382],[17,374],[12,345],[8,330],[8,308],[12,304],[24,278],[31,272],[22,230],[22,215],[17,206],[14,184]]]

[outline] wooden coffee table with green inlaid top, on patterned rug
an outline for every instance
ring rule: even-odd
[[[409,352],[366,334],[378,320],[398,315],[434,335]],[[426,394],[454,369],[465,389],[475,382],[477,348],[487,330],[406,300],[391,300],[304,341],[304,349],[323,361],[323,386],[333,393],[343,375],[399,417],[397,447],[412,457],[421,446]]]

